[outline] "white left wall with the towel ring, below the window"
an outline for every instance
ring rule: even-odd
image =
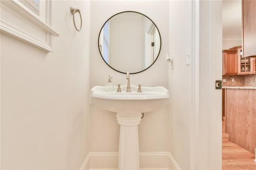
[[[1,33],[1,169],[79,169],[89,152],[90,2],[54,1],[53,25],[54,53]]]

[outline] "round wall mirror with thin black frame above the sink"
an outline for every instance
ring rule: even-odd
[[[134,74],[148,69],[156,61],[161,37],[150,18],[139,12],[125,11],[104,23],[98,47],[102,59],[112,69]]]

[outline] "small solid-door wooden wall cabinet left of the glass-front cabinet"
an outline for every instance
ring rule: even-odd
[[[222,75],[235,75],[238,73],[237,50],[222,50]]]

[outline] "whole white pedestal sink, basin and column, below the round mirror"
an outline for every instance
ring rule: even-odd
[[[126,85],[122,92],[105,92],[105,87],[95,86],[90,90],[90,104],[116,113],[120,125],[119,136],[119,170],[139,170],[138,124],[141,114],[155,111],[169,103],[169,91],[164,87],[138,87],[131,85],[130,93],[126,93]]]

